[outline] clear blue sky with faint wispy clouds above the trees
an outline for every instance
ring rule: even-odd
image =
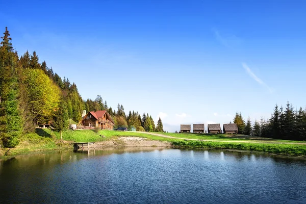
[[[4,1],[19,55],[36,50],[83,98],[181,123],[306,105],[305,1]],[[3,32],[2,32],[3,33]],[[207,126],[207,125],[206,125]]]

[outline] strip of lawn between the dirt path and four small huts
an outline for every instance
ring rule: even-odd
[[[272,139],[248,135],[232,135],[232,134],[195,134],[195,133],[159,133],[162,135],[167,135],[176,138],[187,138],[187,139],[198,139],[198,140],[245,140],[245,141],[256,141],[264,143],[282,143],[282,142],[305,142],[305,141],[294,141],[294,140],[281,140],[281,139]]]

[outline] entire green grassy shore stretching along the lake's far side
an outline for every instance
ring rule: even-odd
[[[161,133],[158,133],[161,134]],[[93,130],[67,130],[63,132],[62,143],[60,134],[50,129],[36,129],[35,133],[25,134],[20,138],[17,147],[10,149],[9,156],[28,154],[35,151],[47,151],[56,149],[72,148],[72,142],[103,142],[106,140],[116,140],[118,137],[142,137],[148,140],[159,140],[172,142],[175,147],[182,148],[212,148],[212,149],[237,149],[247,151],[262,151],[273,154],[284,154],[294,156],[306,156],[306,145],[302,144],[282,144],[282,142],[303,142],[274,140],[270,138],[250,137],[245,135],[226,135],[226,134],[175,134],[162,133],[164,136],[149,135],[138,132],[119,132],[119,131],[98,131]],[[105,136],[105,137],[101,137]],[[214,140],[214,141],[185,141],[184,139]],[[227,142],[228,141],[228,142]],[[244,142],[233,142],[244,141]],[[249,143],[246,143],[248,141]],[[259,142],[254,143],[253,141]],[[0,157],[3,157],[8,149],[0,148]]]

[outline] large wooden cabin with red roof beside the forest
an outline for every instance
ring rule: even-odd
[[[91,111],[82,119],[82,125],[88,129],[99,127],[100,130],[113,130],[114,120],[107,111]]]

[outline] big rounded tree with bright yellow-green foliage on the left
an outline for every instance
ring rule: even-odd
[[[59,88],[39,69],[24,69],[23,83],[31,114],[37,123],[48,123],[60,101]]]

